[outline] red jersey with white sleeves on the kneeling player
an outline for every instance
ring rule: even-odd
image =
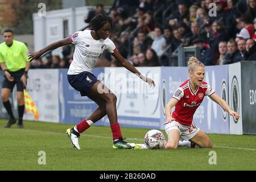
[[[178,100],[175,105],[175,110],[172,113],[172,118],[179,122],[181,125],[190,126],[193,121],[193,115],[204,100],[204,96],[211,96],[214,90],[207,82],[202,82],[202,84],[196,89],[195,92],[192,91],[189,80],[186,80],[183,84],[177,88],[174,93],[174,98]]]

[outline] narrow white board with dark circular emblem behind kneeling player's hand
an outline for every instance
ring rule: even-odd
[[[229,106],[240,115],[235,119],[229,115],[230,134],[243,134],[242,129],[242,97],[241,97],[241,63],[229,65]]]

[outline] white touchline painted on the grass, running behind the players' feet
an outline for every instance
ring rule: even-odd
[[[20,131],[36,131],[36,132],[40,132],[40,133],[49,133],[49,134],[60,134],[63,135],[65,133],[57,133],[54,131],[39,131],[39,130],[30,130],[30,129],[22,129]],[[96,137],[96,138],[106,138],[106,139],[112,139],[112,137],[104,137],[104,136],[100,136],[100,135],[88,135],[88,134],[81,134],[82,136],[85,137]],[[137,139],[137,138],[126,138],[127,140],[138,140],[138,141],[142,141],[143,139]],[[236,149],[236,150],[250,150],[250,151],[256,151],[256,148],[241,148],[241,147],[229,147],[229,146],[213,146],[213,148],[227,148],[227,149]]]

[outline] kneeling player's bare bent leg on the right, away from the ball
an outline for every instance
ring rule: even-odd
[[[190,139],[190,141],[203,148],[212,148],[212,141],[210,141],[208,135],[205,134],[202,130],[200,130],[199,133],[195,135],[195,137]]]

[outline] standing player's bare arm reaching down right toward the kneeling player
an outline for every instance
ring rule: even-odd
[[[112,55],[115,57],[115,59],[121,62],[123,67],[128,69],[130,72],[133,72],[143,81],[147,82],[150,86],[155,86],[155,82],[151,80],[151,78],[144,77],[131,63],[129,63],[129,61],[123,58],[123,56],[118,51],[113,52]]]

